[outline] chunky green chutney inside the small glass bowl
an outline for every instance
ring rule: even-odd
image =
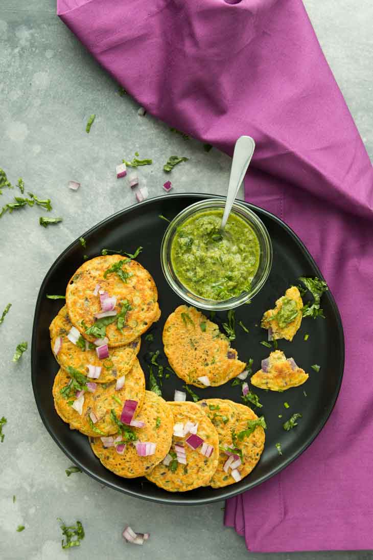
[[[205,299],[222,301],[251,289],[259,265],[259,241],[252,227],[230,213],[220,231],[223,209],[202,210],[177,228],[171,245],[179,281]]]

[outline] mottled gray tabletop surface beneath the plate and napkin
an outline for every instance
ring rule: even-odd
[[[356,120],[370,156],[372,133],[371,0],[306,0],[324,53]],[[63,223],[48,229],[37,223],[45,212],[27,208],[1,218],[0,312],[13,306],[0,326],[0,417],[6,434],[0,444],[0,558],[263,558],[268,560],[365,560],[371,552],[250,554],[244,540],[223,527],[223,503],[170,507],[116,493],[84,474],[65,475],[70,464],[46,432],[30,384],[30,351],[12,363],[16,344],[31,342],[40,283],[56,256],[89,227],[134,202],[115,165],[138,150],[162,162],[171,153],[192,158],[172,173],[181,191],[224,193],[229,158],[208,155],[199,142],[183,141],[167,125],[137,115],[138,105],[117,94],[117,85],[55,16],[54,0],[0,0],[0,166],[16,183],[50,197],[52,216]],[[91,134],[84,127],[96,113]],[[141,170],[150,195],[162,194],[162,166]],[[67,189],[69,179],[81,189]],[[0,204],[12,192],[4,191]],[[13,504],[12,496],[16,495]],[[80,549],[62,550],[56,517],[83,521]],[[122,542],[128,522],[152,533],[144,547]],[[16,533],[18,524],[26,529]]]

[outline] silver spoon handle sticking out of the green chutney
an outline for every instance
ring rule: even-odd
[[[251,136],[240,136],[235,143],[232,167],[230,169],[228,193],[226,194],[223,220],[221,220],[220,226],[222,230],[226,225],[229,213],[232,210],[234,199],[237,197],[238,189],[241,186],[245,172],[247,171],[251,158],[253,157],[254,149],[255,142]]]

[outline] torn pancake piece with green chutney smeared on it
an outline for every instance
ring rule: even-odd
[[[270,330],[272,338],[291,340],[302,321],[303,301],[298,288],[291,286],[285,296],[276,301],[275,309],[269,309],[262,318],[262,328]]]

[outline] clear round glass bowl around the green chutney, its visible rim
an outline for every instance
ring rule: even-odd
[[[245,304],[251,300],[264,286],[272,266],[272,243],[267,228],[263,222],[259,220],[258,216],[245,206],[245,204],[234,202],[232,212],[237,214],[240,218],[242,218],[242,220],[252,227],[259,241],[259,265],[251,283],[251,290],[249,292],[242,292],[239,296],[231,297],[228,300],[216,301],[196,295],[182,282],[180,282],[176,276],[171,261],[171,246],[177,228],[196,212],[201,212],[203,210],[217,210],[224,208],[224,206],[225,199],[221,198],[210,198],[191,204],[191,206],[188,206],[177,214],[177,216],[173,218],[172,222],[169,223],[162,239],[162,245],[160,246],[160,262],[162,264],[163,274],[172,290],[188,304],[200,307],[200,309],[208,309],[211,311],[232,309],[233,307],[238,307],[239,305]]]

